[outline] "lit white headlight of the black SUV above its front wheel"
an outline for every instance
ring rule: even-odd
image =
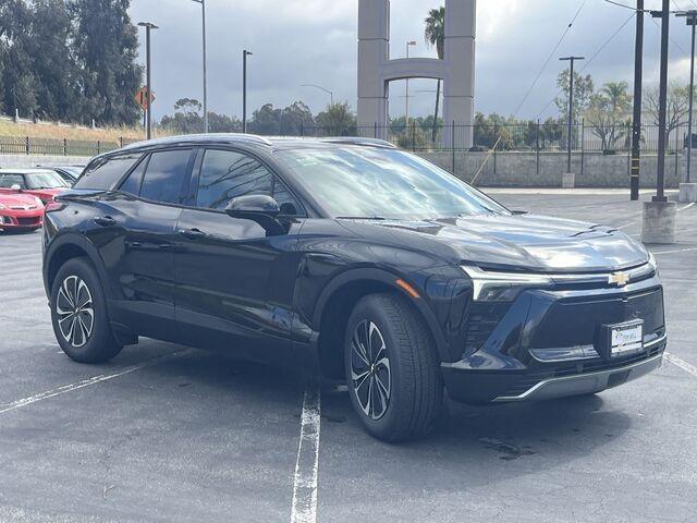
[[[470,265],[461,268],[472,279],[475,302],[512,302],[525,289],[545,289],[554,283],[545,275],[494,272]]]

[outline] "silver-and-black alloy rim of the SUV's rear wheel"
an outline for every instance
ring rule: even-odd
[[[95,308],[91,292],[77,276],[69,276],[61,283],[56,299],[58,328],[63,339],[74,348],[89,340],[95,327]]]

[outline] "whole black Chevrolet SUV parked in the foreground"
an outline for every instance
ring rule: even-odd
[[[205,135],[95,158],[46,209],[53,329],[78,362],[138,336],[348,386],[366,428],[595,393],[658,367],[653,258],[599,224],[516,214],[363,139]]]

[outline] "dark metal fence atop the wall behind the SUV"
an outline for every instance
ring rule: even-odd
[[[641,150],[658,150],[658,125],[641,127]],[[585,123],[571,127],[574,153],[615,155],[632,149],[632,126],[594,126]],[[505,125],[368,125],[368,126],[305,126],[302,136],[364,136],[387,139],[409,150],[490,150],[498,151],[566,151],[568,126],[562,123],[521,123]],[[687,145],[687,124],[671,129],[668,153],[674,154]],[[697,141],[695,143],[697,146]]]

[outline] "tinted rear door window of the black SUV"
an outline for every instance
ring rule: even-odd
[[[155,202],[183,204],[182,185],[191,155],[189,149],[152,153],[140,185],[140,196]]]

